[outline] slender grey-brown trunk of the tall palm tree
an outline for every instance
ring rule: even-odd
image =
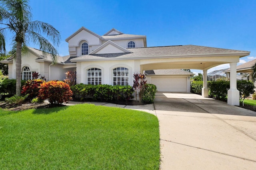
[[[16,48],[16,95],[21,96],[21,43],[17,42]]]

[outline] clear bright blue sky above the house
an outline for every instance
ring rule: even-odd
[[[250,51],[239,64],[256,59],[255,0],[30,0],[30,6],[33,20],[60,31],[61,56],[68,55],[65,39],[84,26],[99,35],[112,28],[146,35],[148,47],[202,45]]]

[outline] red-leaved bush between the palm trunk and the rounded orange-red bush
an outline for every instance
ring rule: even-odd
[[[24,86],[22,86],[21,94],[28,94],[28,99],[38,97],[40,84],[44,82],[45,81],[41,79],[26,81]]]

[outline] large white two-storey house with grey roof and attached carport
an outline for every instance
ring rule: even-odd
[[[44,75],[48,80],[63,80],[65,72],[76,71],[76,83],[84,84],[133,84],[133,74],[147,70],[199,69],[207,77],[207,70],[220,64],[230,63],[231,72],[236,74],[236,64],[240,57],[250,55],[249,51],[220,49],[196,45],[147,47],[145,35],[125,34],[111,29],[100,36],[81,27],[66,39],[69,56],[58,57],[55,65],[42,51],[30,48],[28,55],[22,57],[22,78],[30,79],[32,72]],[[28,57],[30,56],[30,57]],[[9,64],[9,78],[15,78],[13,57],[1,63]],[[233,75],[232,74],[232,75]],[[148,82],[155,83],[158,90],[184,91],[188,81],[184,74],[148,75]],[[187,78],[188,79],[188,78]],[[230,78],[230,98],[228,104],[239,104],[236,80]],[[172,83],[172,82],[176,83]],[[207,79],[204,80],[207,82]],[[188,92],[188,89],[186,90]],[[204,83],[202,96],[208,96],[207,83]]]

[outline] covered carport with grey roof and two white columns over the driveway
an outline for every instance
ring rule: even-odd
[[[219,49],[195,45],[154,47],[152,54],[138,57],[136,64],[140,72],[145,70],[187,68],[203,70],[202,96],[208,97],[207,70],[220,64],[230,64],[230,89],[228,104],[239,105],[239,91],[236,87],[236,65],[249,51]]]

